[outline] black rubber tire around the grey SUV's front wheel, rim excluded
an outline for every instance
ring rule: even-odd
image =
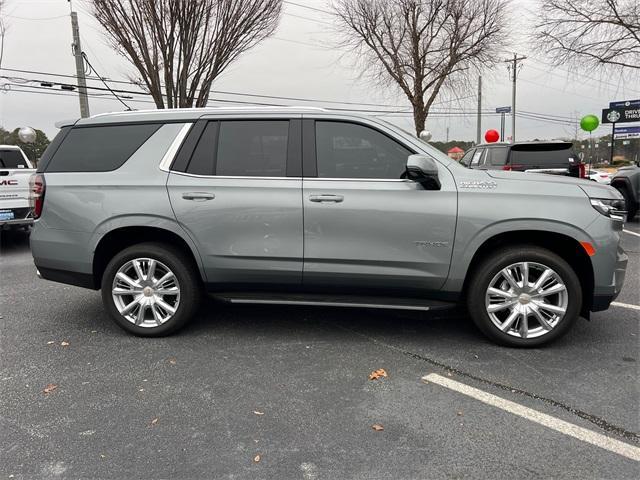
[[[554,270],[568,294],[564,318],[549,332],[534,338],[521,338],[500,330],[489,317],[485,295],[492,279],[505,267],[518,262],[534,262]],[[467,309],[473,322],[489,339],[510,347],[537,347],[567,333],[580,316],[582,287],[571,266],[555,253],[535,245],[518,245],[497,250],[474,269],[467,287]]]

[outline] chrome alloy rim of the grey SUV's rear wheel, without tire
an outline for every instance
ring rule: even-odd
[[[129,322],[139,327],[159,327],[178,309],[180,284],[164,263],[136,258],[120,267],[111,294],[118,312]]]

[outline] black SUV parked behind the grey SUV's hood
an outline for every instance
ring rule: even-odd
[[[548,173],[586,178],[571,142],[487,143],[471,148],[460,163],[479,170]]]

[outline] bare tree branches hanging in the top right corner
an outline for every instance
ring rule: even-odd
[[[556,65],[640,69],[638,0],[541,0],[536,31]]]

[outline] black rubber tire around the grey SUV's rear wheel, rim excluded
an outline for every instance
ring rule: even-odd
[[[120,314],[112,297],[112,285],[120,267],[135,258],[151,258],[167,266],[180,288],[180,301],[171,318],[159,326],[141,327]],[[184,327],[195,315],[202,299],[202,286],[194,262],[179,249],[162,243],[140,243],[116,254],[102,276],[102,301],[113,320],[129,333],[140,337],[162,337]]]

